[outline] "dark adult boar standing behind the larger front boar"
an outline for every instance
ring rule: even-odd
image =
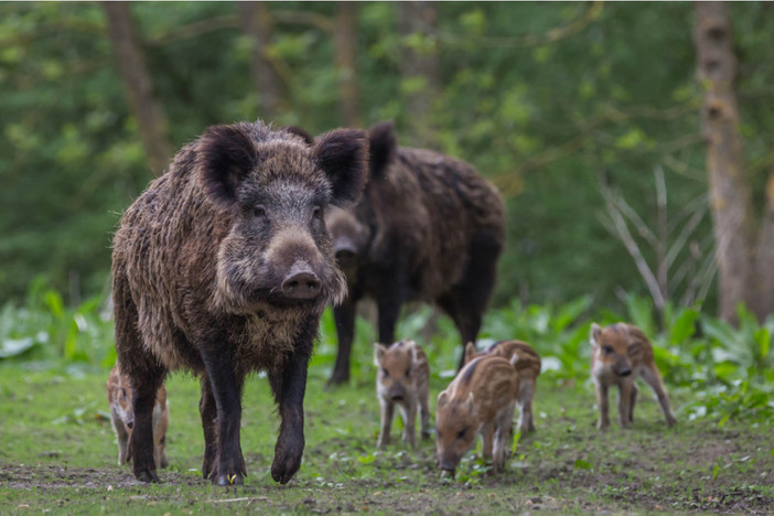
[[[395,342],[400,307],[436,302],[465,343],[475,341],[503,248],[505,209],[497,190],[470,164],[398,147],[391,122],[369,130],[370,178],[361,202],[326,224],[348,293],[334,308],[338,354],[332,384],[350,378],[355,309],[373,298],[379,342]],[[460,367],[464,364],[460,356]]]

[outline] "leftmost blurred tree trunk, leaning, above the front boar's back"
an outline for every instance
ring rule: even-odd
[[[153,97],[153,84],[126,2],[104,2],[118,69],[123,80],[129,107],[140,126],[148,165],[160,175],[172,157],[168,121]]]

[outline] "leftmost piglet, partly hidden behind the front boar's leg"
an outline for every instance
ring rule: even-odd
[[[121,375],[118,364],[110,370],[107,381],[108,402],[110,404],[110,420],[118,439],[118,465],[128,461],[127,447],[129,436],[135,426],[135,410],[131,406],[131,385],[129,378]],[[166,404],[166,387],[163,385],[155,395],[153,405],[153,462],[157,467],[166,467],[166,427],[170,423],[170,409]]]

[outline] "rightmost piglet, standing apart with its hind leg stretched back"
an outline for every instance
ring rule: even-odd
[[[591,378],[596,386],[596,402],[600,407],[599,429],[610,426],[608,417],[608,389],[619,387],[619,418],[621,427],[628,428],[634,421],[634,404],[637,399],[637,387],[634,380],[637,376],[651,386],[667,424],[677,421],[669,409],[669,398],[662,383],[662,375],[653,361],[653,348],[645,334],[636,326],[625,323],[600,327],[591,325]]]

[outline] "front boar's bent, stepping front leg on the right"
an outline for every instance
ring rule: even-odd
[[[295,353],[288,357],[284,368],[269,372],[269,383],[282,419],[271,463],[271,477],[280,484],[287,484],[293,477],[301,467],[303,456],[303,397],[307,391],[307,368],[319,322],[318,319],[312,319],[302,329],[303,334],[295,343]]]

